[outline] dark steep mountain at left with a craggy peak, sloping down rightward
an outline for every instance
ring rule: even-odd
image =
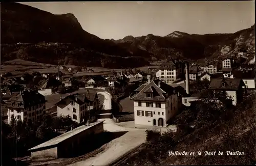
[[[90,59],[96,66],[119,68],[128,58],[131,67],[148,65],[145,59],[114,42],[84,31],[71,13],[55,15],[19,3],[1,3],[1,26],[3,61],[20,58],[88,66]],[[46,62],[48,58],[52,61]]]

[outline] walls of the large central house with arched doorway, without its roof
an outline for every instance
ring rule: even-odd
[[[166,121],[178,112],[177,94],[170,96],[165,102],[141,101],[141,106],[139,103],[139,101],[134,101],[135,125],[161,126],[162,120],[162,127],[166,127]]]

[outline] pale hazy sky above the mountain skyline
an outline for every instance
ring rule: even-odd
[[[236,2],[24,2],[53,14],[72,13],[83,30],[102,39],[234,33],[255,23],[254,1]]]

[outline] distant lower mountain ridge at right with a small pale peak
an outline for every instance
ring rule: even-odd
[[[172,57],[174,58],[218,58],[236,53],[239,49],[255,51],[254,30],[255,23],[248,29],[240,30],[236,33],[199,35],[174,31],[163,37],[148,34],[139,37],[126,36],[123,39],[112,41],[126,49],[131,50],[137,47],[138,49],[146,50],[148,53],[153,54],[156,59],[164,59],[168,56],[169,49],[173,50]],[[128,37],[129,40],[127,40]]]

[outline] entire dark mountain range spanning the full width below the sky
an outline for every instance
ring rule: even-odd
[[[168,56],[198,60],[226,56],[241,48],[255,51],[255,24],[233,34],[174,31],[163,37],[129,35],[114,40],[84,31],[72,13],[55,15],[19,3],[1,3],[1,18],[3,61],[20,58],[39,63],[120,68],[146,66],[148,61]]]

